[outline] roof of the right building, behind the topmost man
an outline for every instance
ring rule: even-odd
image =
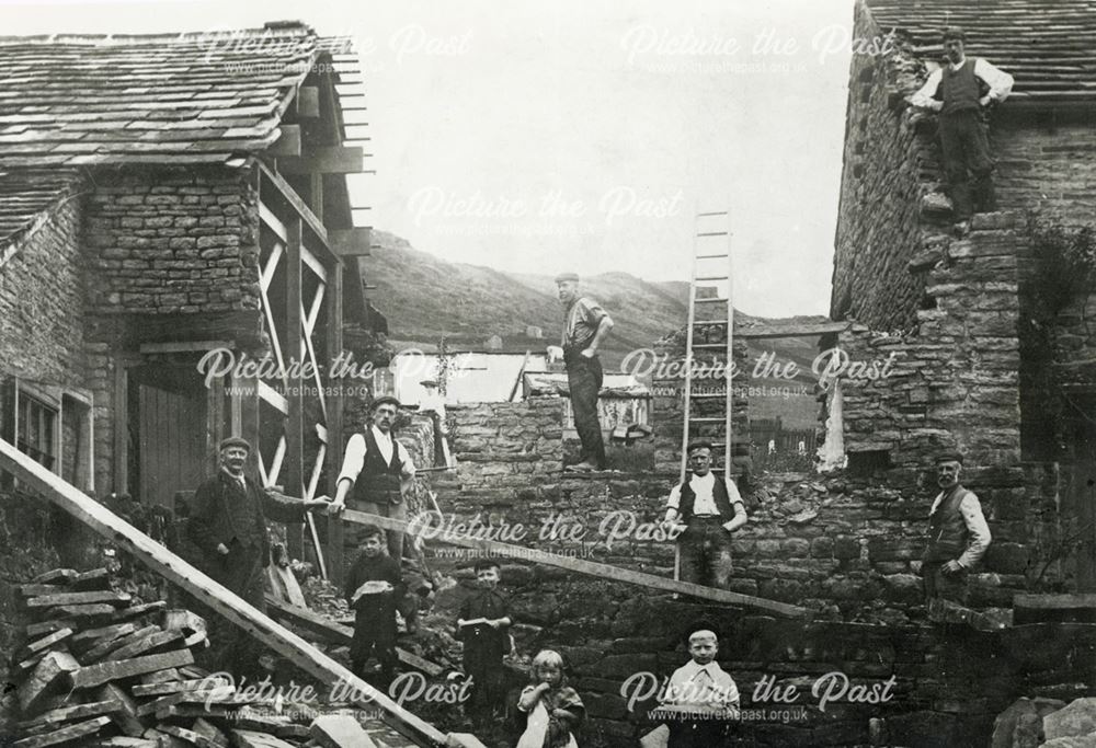
[[[886,33],[898,28],[926,61],[959,25],[967,54],[1016,79],[1011,103],[1096,105],[1096,0],[867,0]]]

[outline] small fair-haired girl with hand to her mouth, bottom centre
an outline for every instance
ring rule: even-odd
[[[563,658],[541,649],[533,658],[529,686],[522,691],[517,709],[528,715],[517,748],[579,748],[573,732],[586,716],[582,699],[567,684]]]

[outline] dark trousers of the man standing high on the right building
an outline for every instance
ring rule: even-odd
[[[980,212],[995,210],[993,159],[982,113],[963,110],[943,115],[939,122],[944,175],[956,220],[968,220],[975,209]]]

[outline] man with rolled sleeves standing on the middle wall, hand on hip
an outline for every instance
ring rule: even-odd
[[[569,471],[591,472],[605,469],[605,442],[597,418],[597,395],[602,389],[602,363],[597,348],[613,330],[613,320],[596,301],[579,294],[579,276],[563,273],[556,277],[559,301],[563,306],[563,364],[571,392],[574,427],[582,441],[578,464]]]

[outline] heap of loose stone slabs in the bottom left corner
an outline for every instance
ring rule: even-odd
[[[134,605],[106,569],[55,569],[19,587],[30,623],[11,666],[18,748],[293,748],[370,745],[347,714],[317,715],[272,689],[237,689],[194,665],[205,621]],[[315,717],[315,718],[313,718]]]

